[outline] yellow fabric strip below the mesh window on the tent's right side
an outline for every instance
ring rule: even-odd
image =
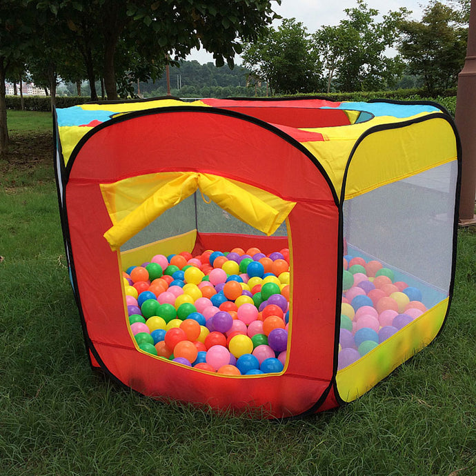
[[[442,327],[448,298],[410,322],[361,359],[337,372],[341,399],[353,401],[384,379],[392,370],[428,346]]]

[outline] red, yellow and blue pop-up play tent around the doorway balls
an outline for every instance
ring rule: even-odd
[[[167,98],[87,103],[54,120],[88,355],[121,384],[217,410],[310,415],[364,394],[442,328],[460,153],[436,103]],[[284,365],[220,374],[143,350],[126,271],[181,253],[206,261],[206,280],[203,258],[219,251],[222,263],[237,248],[288,262]]]

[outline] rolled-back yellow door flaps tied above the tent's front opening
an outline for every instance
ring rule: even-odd
[[[272,235],[295,202],[259,188],[199,172],[166,172],[131,177],[115,184],[101,184],[113,226],[104,233],[117,250],[163,212],[199,189],[231,215]]]

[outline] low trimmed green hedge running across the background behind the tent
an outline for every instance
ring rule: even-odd
[[[370,101],[372,99],[393,99],[397,101],[434,101],[446,108],[450,115],[455,117],[456,89],[439,92],[438,95],[428,97],[428,93],[419,89],[399,89],[395,91],[365,91],[365,92],[331,92],[318,94],[332,101]],[[303,95],[299,95],[302,97]],[[315,96],[315,95],[309,95]],[[292,97],[292,96],[291,96]],[[84,96],[58,96],[56,104],[58,108],[68,108],[89,102],[90,97]],[[24,96],[25,109],[30,111],[50,111],[50,97]],[[6,97],[7,109],[21,110],[19,96]]]

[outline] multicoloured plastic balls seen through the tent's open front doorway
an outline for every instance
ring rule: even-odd
[[[288,346],[289,250],[155,255],[123,272],[132,335],[151,355],[223,375],[279,373]]]

